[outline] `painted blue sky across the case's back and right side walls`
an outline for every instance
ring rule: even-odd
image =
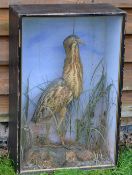
[[[63,41],[72,34],[74,22],[75,34],[85,42],[84,45],[80,45],[84,72],[83,90],[90,88],[92,74],[102,58],[107,64],[106,67],[109,67],[109,72],[112,70],[116,74],[120,49],[120,17],[24,17],[22,20],[22,92],[25,91],[27,78],[30,76],[30,90],[33,89],[30,93],[32,100],[40,93],[40,90],[34,87],[62,76],[65,60]],[[111,36],[109,36],[110,32]],[[109,61],[109,58],[112,61]],[[97,72],[96,80],[100,75],[101,69]],[[111,81],[117,78],[118,74],[111,74],[109,79]]]

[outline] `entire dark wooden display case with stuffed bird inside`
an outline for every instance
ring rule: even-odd
[[[10,6],[9,153],[20,173],[114,167],[126,13]]]

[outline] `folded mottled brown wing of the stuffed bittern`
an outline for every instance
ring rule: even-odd
[[[72,92],[63,79],[53,81],[41,94],[32,121],[37,122],[45,109],[48,110],[51,115],[59,112],[62,107],[67,106],[72,99]]]

